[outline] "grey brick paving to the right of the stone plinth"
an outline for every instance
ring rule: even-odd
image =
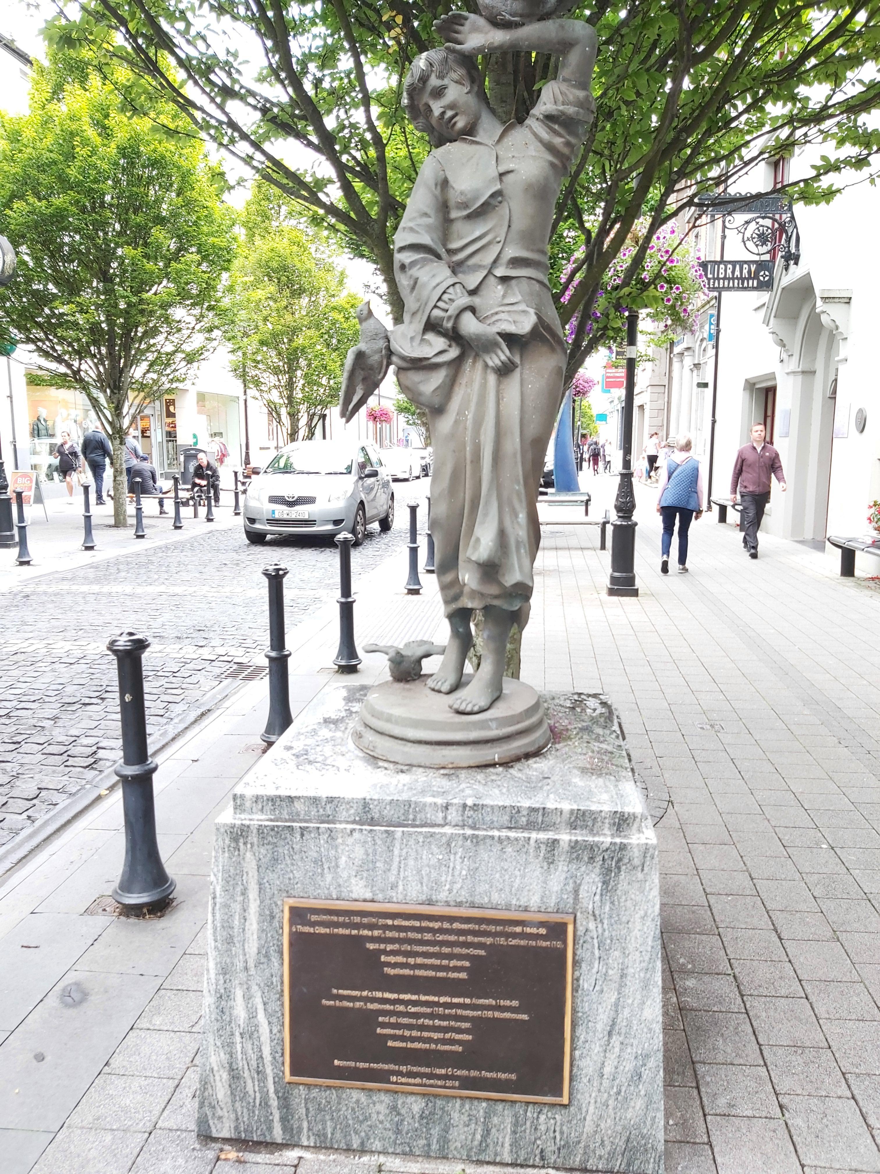
[[[709,517],[661,576],[654,505],[638,600],[546,531],[522,675],[610,695],[661,816],[666,1172],[880,1170],[876,588]]]

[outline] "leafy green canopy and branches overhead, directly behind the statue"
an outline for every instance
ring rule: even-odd
[[[402,79],[438,43],[448,0],[79,0],[50,35],[122,59],[202,133],[299,201],[375,262],[395,321],[392,237],[427,142],[407,124]],[[473,0],[466,7],[474,11]],[[564,324],[578,311],[569,375],[604,339],[587,333],[609,266],[644,220],[617,286],[636,305],[648,243],[683,204],[761,160],[827,142],[799,200],[831,198],[844,171],[873,166],[880,130],[880,0],[598,0],[575,4],[600,41],[598,115],[556,209],[550,282]],[[163,63],[168,61],[168,68]],[[555,63],[481,62],[502,117],[523,119]],[[174,72],[171,72],[174,70]],[[178,81],[180,79],[180,81]],[[569,258],[578,264],[563,279]],[[562,303],[573,276],[577,289]]]

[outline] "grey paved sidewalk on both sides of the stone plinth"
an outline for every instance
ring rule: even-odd
[[[587,487],[600,515],[616,481]],[[661,816],[668,1174],[878,1172],[876,587],[764,535],[752,562],[712,517],[692,528],[691,573],[663,578],[656,494],[637,499],[637,600],[604,594],[597,528],[544,528],[522,675],[609,694]],[[404,567],[401,554],[365,576],[360,647],[441,634],[433,579],[407,599]],[[332,603],[296,629],[298,706],[339,683],[336,632]],[[361,680],[384,670],[364,659]],[[178,880],[164,918],[84,912],[119,875],[115,795],[0,889],[11,1174],[195,1174],[233,1158],[253,1174],[462,1169],[221,1152],[192,1133],[212,822],[259,754],[264,690],[249,686],[162,763],[158,825]]]

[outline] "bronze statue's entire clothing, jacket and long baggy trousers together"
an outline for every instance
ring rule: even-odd
[[[537,481],[562,402],[566,345],[547,281],[556,197],[594,117],[590,94],[548,82],[524,123],[428,155],[394,237],[404,322],[391,360],[428,409],[431,532],[444,608],[528,616]],[[494,373],[454,332],[469,308],[516,360]]]

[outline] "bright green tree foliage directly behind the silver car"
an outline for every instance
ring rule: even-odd
[[[265,404],[284,444],[311,439],[339,400],[360,298],[344,291],[330,250],[268,183],[253,184],[242,225],[222,315],[233,370]]]

